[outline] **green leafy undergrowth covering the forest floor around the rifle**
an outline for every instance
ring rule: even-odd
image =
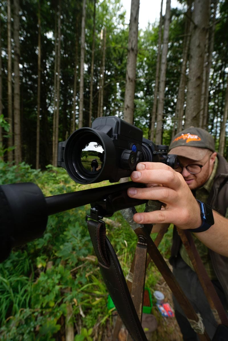
[[[12,167],[2,161],[0,179],[1,184],[34,182],[44,196],[109,185],[104,181],[82,186],[73,182],[64,169],[48,166],[41,172],[24,163]],[[107,328],[110,331],[113,327],[112,311],[107,308],[108,293],[85,222],[89,212],[88,204],[50,216],[41,238],[15,248],[0,264],[1,340],[58,341],[65,340],[70,332],[75,341],[108,340]],[[160,244],[166,258],[171,234],[169,230]],[[108,219],[107,236],[126,275],[137,238],[120,212]],[[160,280],[151,262],[146,286],[151,292],[158,290]],[[159,321],[159,326],[164,325]],[[159,328],[157,332],[163,335]],[[170,335],[169,328],[165,329]]]

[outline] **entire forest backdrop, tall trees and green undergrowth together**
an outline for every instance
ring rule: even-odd
[[[45,196],[84,189],[57,167],[57,146],[105,116],[156,144],[201,127],[228,159],[228,2],[179,0],[171,8],[161,0],[162,8],[142,30],[139,0],[131,0],[130,23],[121,0],[1,1],[0,184],[34,182]],[[113,311],[88,212],[89,205],[51,216],[42,238],[0,264],[1,340],[110,340]],[[119,212],[108,224],[127,273],[135,236]],[[165,258],[171,235],[160,245]],[[146,285],[155,290],[161,276],[150,266]],[[163,322],[158,317],[153,340],[171,340],[175,326]]]

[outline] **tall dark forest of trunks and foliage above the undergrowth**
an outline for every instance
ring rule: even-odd
[[[227,157],[227,25],[226,1],[180,1],[178,9],[167,1],[165,15],[137,30],[135,43],[118,0],[3,1],[4,160],[56,165],[57,142],[109,115],[157,144],[189,124],[203,127]]]

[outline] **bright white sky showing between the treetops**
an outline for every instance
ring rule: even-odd
[[[124,9],[126,10],[126,22],[130,21],[131,0],[122,0]],[[166,1],[163,0],[162,14],[165,14]],[[177,0],[171,0],[171,8],[180,7]],[[138,28],[145,30],[148,21],[152,24],[156,19],[159,20],[161,11],[161,0],[140,0],[139,5],[139,24]]]

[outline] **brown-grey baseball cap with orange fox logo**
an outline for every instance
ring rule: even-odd
[[[215,151],[215,142],[209,132],[202,128],[190,127],[176,134],[169,146],[169,154],[176,154],[199,161],[208,150]]]

